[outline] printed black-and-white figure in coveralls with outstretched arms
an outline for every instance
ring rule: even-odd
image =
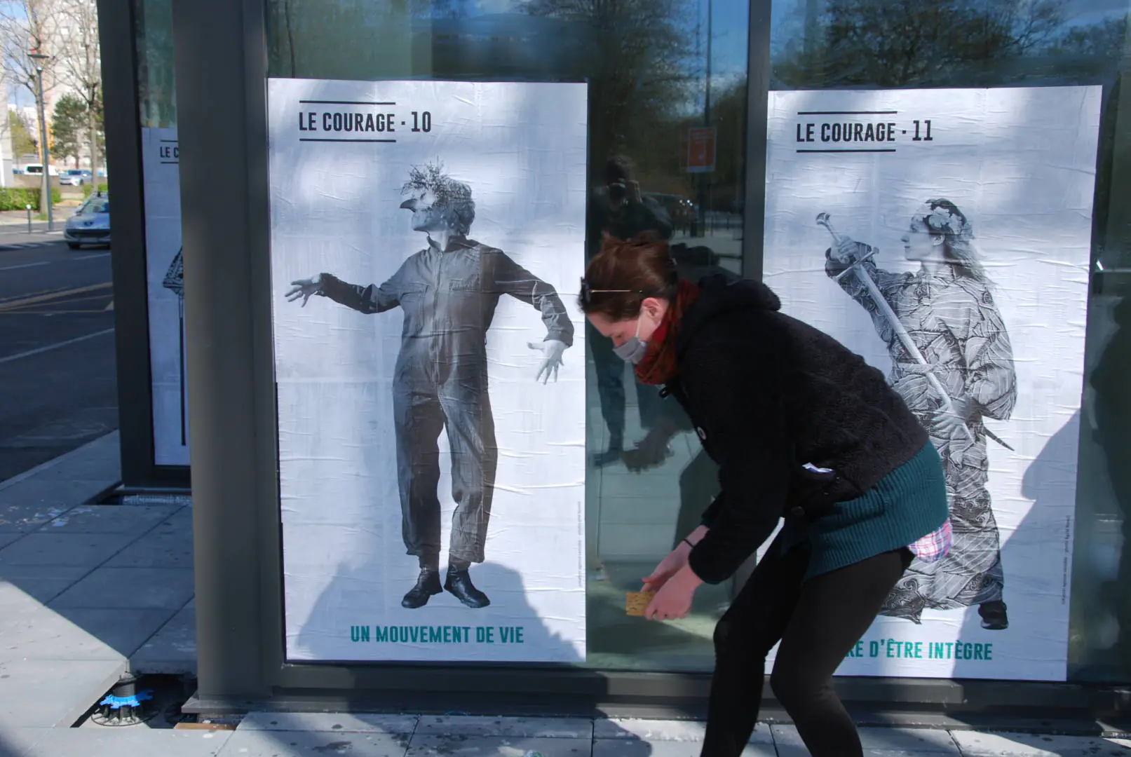
[[[543,353],[543,383],[573,342],[573,324],[552,286],[501,250],[467,238],[475,220],[470,188],[439,164],[414,168],[402,189],[400,207],[428,246],[380,286],[347,284],[330,273],[294,281],[287,299],[328,297],[362,313],[404,312],[400,353],[392,384],[402,529],[407,554],[421,573],[402,604],[418,608],[447,590],[472,608],[490,600],[470,580],[482,563],[495,467],[494,418],[487,395],[486,334],[499,297],[510,295],[542,313],[546,337],[529,342]],[[451,495],[456,502],[447,578],[440,584],[440,432],[451,450]]]

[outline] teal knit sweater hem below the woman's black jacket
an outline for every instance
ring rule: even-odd
[[[908,547],[946,522],[947,482],[942,460],[927,444],[863,496],[837,503],[810,523],[786,519],[776,547],[783,552],[808,540],[812,552],[805,578]]]

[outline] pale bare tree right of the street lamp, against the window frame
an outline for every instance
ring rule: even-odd
[[[90,173],[98,173],[98,131],[102,119],[102,50],[98,46],[96,0],[55,0],[61,24],[67,28],[66,51],[59,54],[60,79],[86,104],[86,139],[90,149]]]

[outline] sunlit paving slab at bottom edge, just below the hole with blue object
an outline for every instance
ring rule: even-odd
[[[27,733],[25,738],[37,738],[33,746],[17,754],[19,757],[216,757],[232,734],[232,731],[144,726],[58,728]]]

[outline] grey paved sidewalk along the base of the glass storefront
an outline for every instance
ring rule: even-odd
[[[692,721],[252,713],[234,730],[72,728],[119,676],[195,675],[191,505],[93,505],[119,479],[111,434],[0,482],[0,757],[698,757]],[[159,721],[158,716],[153,721]],[[869,728],[874,757],[1128,755],[1131,741]],[[808,754],[759,725],[745,755]]]

